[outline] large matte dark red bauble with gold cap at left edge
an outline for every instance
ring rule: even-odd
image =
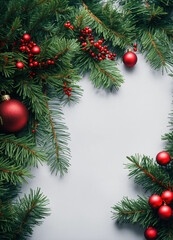
[[[0,104],[0,129],[5,132],[18,132],[28,122],[28,110],[25,105],[9,95],[2,96]]]

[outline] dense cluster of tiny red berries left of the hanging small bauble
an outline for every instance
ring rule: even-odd
[[[110,53],[106,45],[102,46],[104,39],[102,38],[101,40],[94,42],[94,37],[91,32],[92,30],[89,27],[85,27],[81,30],[80,42],[84,47],[82,50],[89,52],[95,60],[102,61],[106,59],[106,56],[108,56],[110,60],[114,60],[116,54]]]

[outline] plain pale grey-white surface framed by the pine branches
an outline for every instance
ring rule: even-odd
[[[33,240],[139,240],[138,227],[117,226],[111,207],[142,188],[128,179],[126,156],[155,157],[162,150],[171,111],[172,80],[151,70],[141,55],[134,69],[119,68],[125,83],[117,93],[95,89],[86,76],[79,104],[65,107],[71,133],[69,173],[60,179],[47,166],[34,169],[23,188],[41,190],[50,199],[51,216],[36,227]]]

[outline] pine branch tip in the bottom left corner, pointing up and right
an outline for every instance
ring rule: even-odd
[[[12,231],[8,233],[12,240],[24,240],[33,233],[33,227],[40,225],[42,220],[49,215],[47,198],[40,192],[30,190],[29,196],[24,195],[22,199],[13,205],[14,216]]]

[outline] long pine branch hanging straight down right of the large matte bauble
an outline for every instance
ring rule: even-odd
[[[38,142],[47,154],[47,162],[51,172],[63,175],[68,171],[70,150],[68,148],[69,134],[67,127],[62,122],[63,114],[56,93],[49,90],[51,100],[47,102],[49,116],[38,123]],[[48,97],[49,97],[48,95]]]

